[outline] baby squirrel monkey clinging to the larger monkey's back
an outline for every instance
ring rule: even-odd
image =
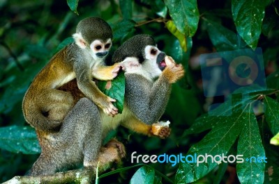
[[[82,19],[73,34],[75,43],[61,49],[33,79],[27,90],[22,109],[31,126],[40,131],[59,131],[61,122],[75,105],[70,92],[57,90],[68,81],[77,79],[77,87],[85,97],[96,103],[106,115],[118,113],[114,99],[100,92],[91,80],[112,80],[119,72],[118,64],[105,67],[105,57],[112,46],[112,28],[103,19]]]

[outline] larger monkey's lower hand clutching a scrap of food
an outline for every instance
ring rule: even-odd
[[[169,121],[152,124],[151,135],[156,135],[161,139],[169,137],[170,132],[172,131],[171,128],[169,128],[169,124]]]

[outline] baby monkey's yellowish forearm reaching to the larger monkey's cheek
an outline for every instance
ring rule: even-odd
[[[121,66],[118,63],[112,66],[98,67],[97,69],[93,70],[92,76],[100,81],[110,81],[117,76],[120,67]]]

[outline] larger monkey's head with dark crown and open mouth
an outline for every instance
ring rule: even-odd
[[[119,47],[112,56],[112,62],[122,62],[126,72],[148,74],[157,78],[165,69],[166,54],[156,47],[151,35],[135,35]]]

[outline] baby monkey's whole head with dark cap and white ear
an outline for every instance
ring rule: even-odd
[[[75,44],[89,51],[94,60],[104,58],[112,47],[112,28],[98,17],[82,19],[73,34]]]

